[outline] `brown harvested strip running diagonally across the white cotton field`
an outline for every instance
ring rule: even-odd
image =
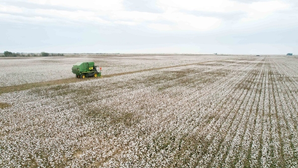
[[[240,59],[240,58],[231,58],[231,59],[205,61],[205,62],[192,63],[192,64],[175,65],[175,66],[168,66],[168,67],[150,68],[150,69],[145,69],[145,70],[103,75],[102,77],[110,78],[110,77],[122,76],[122,75],[127,75],[127,74],[135,74],[135,73],[140,73],[140,72],[162,70],[162,69],[176,68],[176,67],[185,67],[185,66],[190,66],[190,65],[199,65],[199,64],[205,64],[205,63],[211,63],[211,62],[217,62],[217,61],[237,60],[237,59]],[[86,78],[86,79],[84,79],[84,81],[92,80],[92,79],[94,79],[94,78]],[[2,93],[8,93],[8,92],[13,92],[13,91],[28,90],[28,89],[31,89],[34,87],[50,86],[50,85],[55,85],[55,84],[70,84],[70,83],[76,83],[76,82],[81,82],[81,81],[82,81],[81,79],[66,78],[66,79],[60,79],[60,80],[54,80],[54,81],[20,84],[20,85],[12,85],[12,86],[2,86],[2,87],[0,87],[0,95]]]

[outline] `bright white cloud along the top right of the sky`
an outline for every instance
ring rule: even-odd
[[[232,0],[158,0],[157,4],[165,11],[202,11],[202,12],[244,12],[243,20],[258,20],[279,10],[285,10],[290,4],[281,0],[243,3]]]

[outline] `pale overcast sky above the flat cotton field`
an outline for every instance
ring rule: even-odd
[[[298,53],[298,0],[0,0],[0,52]]]

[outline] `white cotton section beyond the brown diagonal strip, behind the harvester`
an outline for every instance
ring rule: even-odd
[[[152,68],[177,66],[194,62],[216,61],[235,58],[234,56],[73,56],[73,57],[34,57],[1,59],[0,86],[36,83],[57,79],[72,78],[72,66],[76,62],[95,62],[102,67],[103,75],[140,71]]]

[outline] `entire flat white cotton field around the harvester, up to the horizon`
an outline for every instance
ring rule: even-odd
[[[76,79],[94,61],[102,78]],[[0,58],[0,167],[298,167],[298,58]]]

